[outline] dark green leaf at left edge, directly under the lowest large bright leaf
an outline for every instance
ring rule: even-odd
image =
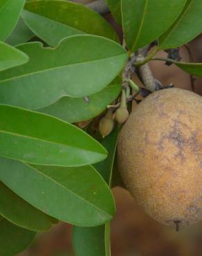
[[[44,212],[21,199],[0,181],[0,214],[21,228],[37,232],[51,228],[52,221]]]

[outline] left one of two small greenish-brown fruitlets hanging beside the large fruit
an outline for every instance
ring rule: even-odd
[[[113,111],[112,109],[109,109],[107,111],[107,114],[104,116],[104,118],[100,119],[99,123],[99,131],[102,137],[108,136],[114,127],[114,120],[113,120]]]

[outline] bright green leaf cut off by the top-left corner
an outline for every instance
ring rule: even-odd
[[[25,0],[0,1],[0,41],[5,40],[12,32],[15,24],[17,24],[24,3]]]

